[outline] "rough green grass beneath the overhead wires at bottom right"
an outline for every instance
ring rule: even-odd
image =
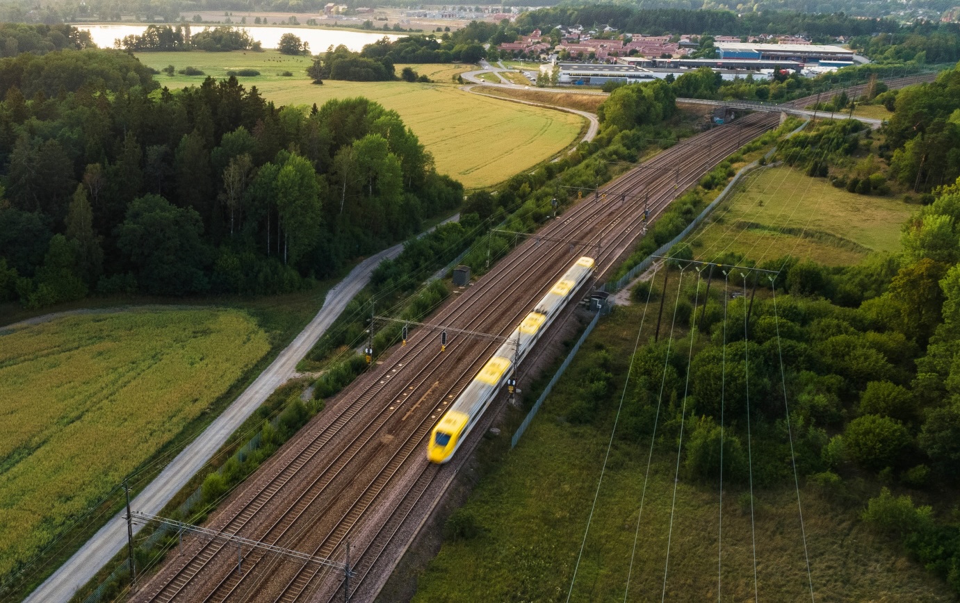
[[[420,573],[414,601],[566,600],[642,311],[640,306],[618,309],[600,322],[516,450],[506,450],[507,437],[484,442],[479,456],[487,473],[458,512],[475,520],[479,535],[444,541]],[[648,327],[652,322],[648,315]],[[600,347],[610,354],[612,373],[621,377],[614,379],[614,393],[602,403],[600,418],[571,425],[564,418],[577,403],[571,392],[579,389],[590,355]],[[656,443],[631,569],[649,446],[649,439],[614,439],[570,600],[622,601],[628,571],[628,600],[660,597],[677,449],[672,437]],[[744,490],[738,486],[724,492],[724,601],[754,596]],[[905,559],[897,545],[868,531],[857,519],[858,508],[831,502],[813,487],[802,487],[801,494],[818,600],[953,600],[946,585]],[[789,484],[756,491],[761,600],[809,600],[795,497]],[[682,471],[669,556],[669,600],[716,600],[718,502],[716,483],[691,481]]]

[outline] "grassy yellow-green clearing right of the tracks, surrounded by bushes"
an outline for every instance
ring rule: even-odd
[[[874,251],[897,251],[900,226],[916,209],[899,198],[848,193],[785,167],[750,174],[687,239],[697,259],[733,251],[756,262],[785,254],[831,266]]]

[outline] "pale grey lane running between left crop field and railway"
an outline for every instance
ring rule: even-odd
[[[460,215],[457,214],[444,221],[459,219]],[[324,306],[310,324],[280,352],[270,366],[240,394],[233,404],[228,406],[197,439],[183,449],[160,475],[157,475],[156,479],[132,500],[132,509],[158,514],[166,503],[186,485],[186,482],[200,471],[214,452],[223,446],[229,435],[238,429],[278,386],[293,376],[300,359],[324,335],[334,319],[347,307],[350,299],[370,282],[373,268],[386,258],[396,258],[402,250],[403,244],[397,244],[367,258],[359,266],[354,267],[347,278],[329,290],[324,299]],[[94,534],[93,538],[25,600],[36,603],[68,601],[74,592],[84,586],[100,568],[107,565],[109,560],[127,545],[127,522],[123,519],[124,514],[125,512],[120,512],[110,519],[100,531]],[[133,525],[134,534],[139,529],[139,525]]]

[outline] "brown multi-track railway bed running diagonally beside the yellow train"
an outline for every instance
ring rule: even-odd
[[[919,78],[923,77],[905,79],[902,85],[922,81]],[[807,98],[794,103],[814,101]],[[729,129],[715,129],[688,139],[646,162],[644,169],[614,180],[604,190],[606,200],[584,200],[542,233],[580,240],[586,236],[591,243],[602,242],[597,263],[602,276],[636,238],[642,216],[642,206],[636,202],[638,192],[649,194],[651,217],[656,218],[672,198],[735,151],[740,142],[753,139],[776,123],[774,116],[752,115],[740,120],[738,140],[729,136]],[[628,193],[633,201],[621,204],[618,197]],[[506,332],[539,297],[537,293],[559,276],[565,259],[579,255],[566,247],[536,245],[533,241],[519,245],[433,321]],[[526,287],[519,291],[518,285]],[[410,345],[396,350],[380,367],[350,385],[338,397],[338,404],[324,413],[326,416],[320,415],[302,429],[254,475],[258,478],[249,487],[228,501],[211,527],[313,550],[324,557],[338,555],[341,545],[351,535],[356,536],[355,587],[368,585],[372,569],[383,559],[396,531],[438,473],[418,453],[425,446],[429,429],[489,357],[493,346],[454,336],[447,352],[439,353],[436,339],[435,333],[414,332]],[[451,380],[450,375],[460,377]],[[435,394],[439,391],[443,393],[438,397]],[[419,400],[416,405],[404,404],[414,399]],[[398,418],[401,410],[405,412],[402,419]],[[409,417],[414,421],[399,429],[397,426]],[[465,450],[461,456],[467,453]],[[359,489],[357,483],[361,483]],[[362,538],[364,535],[366,538]],[[253,552],[246,560],[248,569],[238,574],[232,548],[225,551],[212,542],[188,548],[185,559],[168,562],[167,568],[134,595],[134,600],[294,601],[304,595],[332,597],[335,592],[331,586],[337,577],[324,576],[318,568],[290,571],[284,568],[289,564],[281,565],[276,558],[264,559]]]

